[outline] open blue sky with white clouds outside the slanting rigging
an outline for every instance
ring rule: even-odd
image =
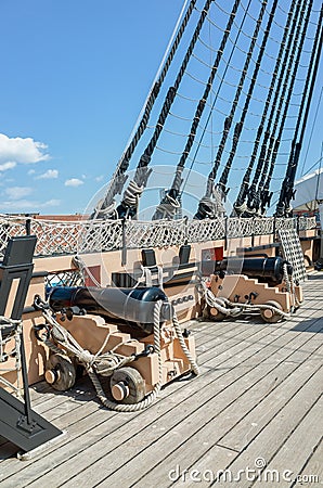
[[[182,5],[2,0],[0,213],[85,211],[115,169]],[[322,112],[306,168],[320,158]]]

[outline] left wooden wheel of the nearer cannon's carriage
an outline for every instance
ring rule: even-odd
[[[54,354],[49,357],[44,378],[53,388],[66,391],[75,384],[75,367],[67,356]]]

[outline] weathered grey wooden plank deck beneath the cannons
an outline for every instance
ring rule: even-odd
[[[305,297],[280,324],[192,322],[201,375],[140,413],[101,408],[88,378],[37,385],[34,409],[68,436],[25,462],[2,440],[1,487],[323,486],[322,272]]]

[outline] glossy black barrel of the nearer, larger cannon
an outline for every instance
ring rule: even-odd
[[[146,333],[154,329],[154,308],[163,301],[160,322],[170,320],[173,314],[171,304],[158,287],[94,287],[55,286],[49,291],[49,304],[54,311],[79,307],[89,313],[109,317],[118,323],[137,325]]]

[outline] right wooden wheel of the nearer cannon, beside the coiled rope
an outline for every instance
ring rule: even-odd
[[[116,370],[109,385],[114,399],[120,403],[138,403],[145,396],[145,382],[134,368]]]

